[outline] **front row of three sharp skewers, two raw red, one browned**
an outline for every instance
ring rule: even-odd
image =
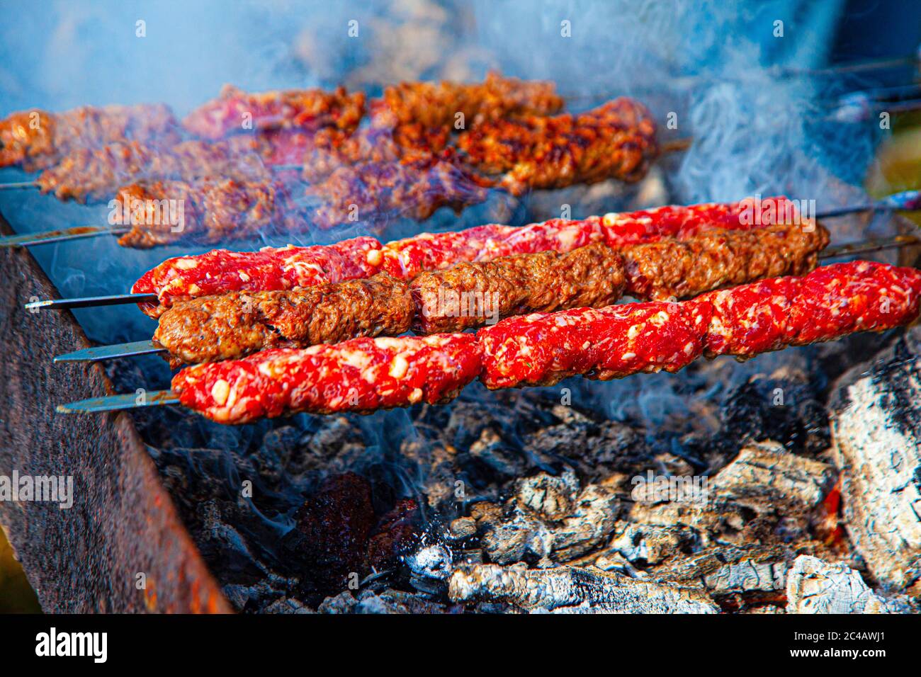
[[[700,356],[749,357],[915,320],[921,273],[859,261],[817,268],[855,248],[828,247],[820,224],[770,200],[770,223],[742,219],[745,204],[699,204],[169,259],[122,300],[158,318],[146,352],[194,366],[140,402],[60,410],[181,403],[228,424],[370,412],[447,402],[477,378],[495,389],[676,371]],[[624,295],[640,301],[618,304]],[[129,354],[131,345],[109,346],[62,361]]]

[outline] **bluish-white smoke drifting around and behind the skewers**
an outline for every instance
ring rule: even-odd
[[[855,83],[787,71],[822,64],[842,6],[841,0],[60,0],[36,11],[29,0],[7,0],[5,14],[15,20],[0,25],[0,115],[36,107],[56,111],[87,103],[161,100],[182,114],[215,97],[227,82],[253,90],[347,83],[373,95],[400,79],[475,79],[495,67],[511,76],[553,79],[575,111],[613,96],[635,96],[654,112],[664,134],[693,136],[691,150],[664,161],[668,171],[658,175],[665,176],[670,202],[787,193],[832,206],[862,195],[858,182],[879,129],[828,121],[827,97]],[[348,33],[351,21],[356,21],[355,37]],[[22,176],[15,170],[0,172],[3,181]],[[598,211],[650,206],[637,195],[660,193],[644,192],[644,184],[628,191],[596,191],[592,204]],[[574,204],[579,215],[577,201],[585,194],[583,189],[548,193],[517,208],[499,204],[499,209],[491,201],[460,217],[441,210],[422,227],[397,223],[384,236],[466,228],[497,214],[521,223],[535,213],[555,216],[564,203]],[[99,223],[105,213],[25,193],[0,195],[0,210],[19,231]],[[329,241],[359,233],[355,227],[266,243]],[[835,229],[833,239],[857,234],[856,228]],[[112,239],[91,239],[34,251],[62,294],[79,296],[122,293],[163,259],[206,249],[181,245],[133,251]],[[102,344],[146,338],[153,329],[152,321],[133,308],[82,310],[78,319]],[[787,351],[746,365],[721,362],[719,368],[677,376],[643,375],[611,383],[573,379],[561,387],[574,389],[574,404],[611,418],[639,420],[655,431],[676,418],[687,421],[698,401],[723,385],[766,365],[799,365],[806,354]],[[146,369],[146,383],[130,385],[149,386],[168,377],[160,364],[157,370]],[[558,392],[548,389],[547,394],[558,397]],[[499,395],[484,389],[476,393],[485,409],[502,406]],[[294,425],[307,427],[311,420],[297,417]],[[415,435],[409,415],[375,414],[360,425],[369,459],[386,465],[407,493],[424,484],[421,471],[402,465],[393,451],[399,446],[395,440]],[[253,430],[264,433],[275,424],[247,426],[242,432],[204,422],[200,426],[189,433],[197,443],[242,452],[259,438]]]

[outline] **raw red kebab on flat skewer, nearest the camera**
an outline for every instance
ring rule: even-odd
[[[582,375],[675,372],[700,356],[752,357],[914,321],[921,272],[851,262],[688,301],[631,303],[510,318],[479,333],[357,338],[276,348],[181,370],[172,391],[70,403],[62,413],[181,403],[223,424],[309,412],[369,413],[445,403],[473,379],[490,389]]]

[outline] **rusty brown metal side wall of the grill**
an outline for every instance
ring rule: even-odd
[[[13,233],[2,215],[0,233]],[[70,311],[23,308],[30,297],[58,298],[51,281],[29,251],[12,249],[0,251],[0,279],[0,474],[74,477],[69,509],[0,501],[0,525],[42,609],[231,612],[131,418],[54,413],[56,403],[111,394],[111,383],[98,366],[52,365],[89,344]]]

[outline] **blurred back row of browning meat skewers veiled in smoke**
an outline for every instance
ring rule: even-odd
[[[637,181],[659,154],[656,125],[632,99],[562,113],[553,83],[489,74],[467,85],[403,83],[370,102],[344,88],[251,94],[225,88],[181,123],[166,106],[16,113],[0,123],[0,167],[41,169],[35,187],[105,202],[120,244],[215,243],[425,220],[439,207],[607,179]],[[242,134],[251,130],[251,134]],[[181,228],[164,213],[183,205]],[[34,243],[67,234],[12,239]]]

